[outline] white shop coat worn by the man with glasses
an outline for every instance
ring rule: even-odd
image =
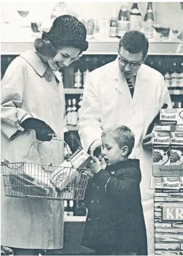
[[[116,59],[88,75],[79,121],[79,135],[86,152],[95,139],[101,138],[102,130],[109,127],[126,125],[134,132],[135,146],[129,157],[140,159],[141,197],[147,227],[148,254],[151,255],[154,240],[153,190],[149,189],[152,150],[143,149],[142,139],[164,103],[172,108],[164,78],[158,71],[145,64],[140,66],[132,99]]]

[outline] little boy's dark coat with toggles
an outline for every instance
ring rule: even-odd
[[[82,245],[147,255],[147,235],[140,195],[138,159],[101,169],[87,187],[88,214]]]

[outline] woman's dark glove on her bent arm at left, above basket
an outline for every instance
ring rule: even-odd
[[[42,142],[51,141],[53,136],[49,134],[55,134],[54,130],[52,130],[49,125],[36,118],[25,119],[22,123],[20,123],[20,126],[22,126],[25,130],[34,130],[36,133],[36,138],[38,141]]]

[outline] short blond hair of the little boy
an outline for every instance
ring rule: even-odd
[[[132,153],[132,149],[135,143],[135,136],[131,129],[127,126],[119,125],[113,128],[109,128],[102,132],[102,137],[112,136],[120,148],[128,146],[129,156]]]

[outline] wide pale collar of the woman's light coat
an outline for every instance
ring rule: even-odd
[[[41,58],[35,53],[35,51],[28,50],[20,55],[20,57],[23,57],[35,70],[35,72],[40,75],[41,77],[44,76],[47,69],[54,73],[54,75],[57,77],[59,82],[62,82],[61,75],[59,71],[52,71],[50,67],[47,66],[46,63],[44,63]]]

